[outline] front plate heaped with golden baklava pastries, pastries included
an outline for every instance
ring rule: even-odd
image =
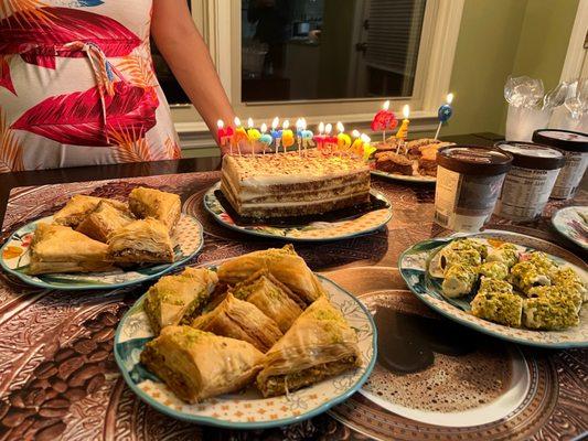
[[[279,427],[360,389],[376,330],[355,297],[287,245],[161,278],[122,318],[115,356],[132,391],[163,413]]]

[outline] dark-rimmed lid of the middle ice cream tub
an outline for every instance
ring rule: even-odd
[[[513,165],[533,170],[557,170],[566,158],[559,150],[533,142],[499,141],[494,144],[513,155]]]

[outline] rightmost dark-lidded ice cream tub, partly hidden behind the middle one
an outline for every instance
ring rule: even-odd
[[[571,130],[541,129],[533,132],[533,142],[564,151],[566,163],[555,181],[552,197],[574,197],[588,166],[588,133]]]

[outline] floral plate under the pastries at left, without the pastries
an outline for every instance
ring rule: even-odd
[[[196,255],[203,245],[203,228],[194,217],[182,214],[175,227],[173,240],[175,261],[133,269],[116,269],[108,272],[77,272],[71,275],[26,275],[30,261],[30,245],[36,224],[51,223],[52,216],[33,220],[10,236],[0,248],[0,266],[4,271],[39,288],[60,290],[113,289],[140,283],[171,271]]]

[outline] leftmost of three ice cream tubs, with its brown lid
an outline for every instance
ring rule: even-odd
[[[492,147],[440,149],[435,222],[455,232],[479,232],[494,211],[512,160],[511,153]]]

